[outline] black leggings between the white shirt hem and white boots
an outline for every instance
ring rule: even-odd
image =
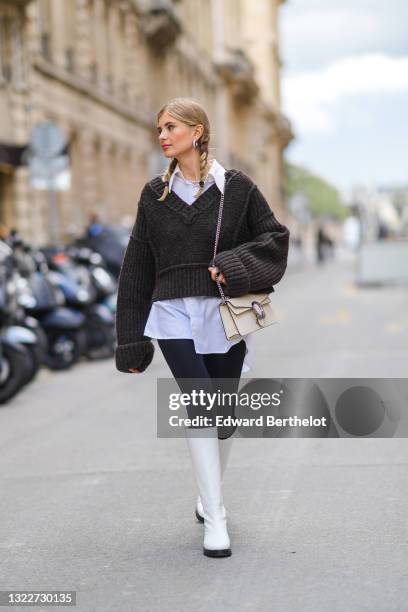
[[[242,373],[242,366],[245,358],[245,340],[233,344],[227,353],[196,353],[193,340],[189,339],[158,339],[160,350],[175,378],[180,391],[190,393],[192,389],[197,389],[197,382],[188,379],[200,379],[200,389],[210,393],[218,389],[222,393],[236,393]],[[213,384],[213,379],[223,380]],[[203,380],[205,379],[205,380]],[[206,384],[208,381],[208,384]],[[186,406],[188,416],[193,418],[197,414],[208,414],[205,410],[197,410],[193,406]],[[216,413],[222,415],[235,414],[235,404],[225,402],[222,406],[217,406]],[[211,412],[211,414],[213,414]],[[218,438],[230,437],[236,427],[218,427]]]

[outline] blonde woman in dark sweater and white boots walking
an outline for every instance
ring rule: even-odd
[[[223,391],[236,391],[243,366],[250,368],[251,337],[226,338],[216,280],[230,297],[274,291],[286,269],[289,231],[248,176],[209,159],[210,125],[198,102],[175,98],[165,104],[157,130],[171,161],[164,175],[142,190],[122,263],[116,367],[143,372],[156,338],[182,391],[191,391],[198,378],[208,389],[222,378]],[[222,414],[229,410],[221,408]],[[231,555],[221,488],[231,433],[210,424],[189,428],[186,437],[199,490],[196,516],[204,522],[203,552],[209,557]]]

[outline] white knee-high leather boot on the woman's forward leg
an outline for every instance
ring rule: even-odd
[[[206,432],[206,437],[203,436]],[[200,493],[204,516],[203,553],[207,557],[231,556],[226,516],[222,511],[221,464],[217,428],[189,430],[186,440]],[[198,432],[198,433],[197,433]]]

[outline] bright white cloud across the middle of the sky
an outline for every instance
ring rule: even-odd
[[[338,107],[346,97],[408,91],[408,55],[370,53],[345,57],[323,70],[283,78],[284,112],[295,130],[333,133]]]

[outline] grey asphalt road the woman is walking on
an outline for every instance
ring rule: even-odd
[[[352,262],[288,274],[250,374],[406,376],[407,289],[352,281]],[[408,610],[405,439],[237,439],[233,554],[209,559],[185,440],[156,436],[166,376],[159,349],[140,375],[44,370],[0,409],[1,589],[86,612]]]

